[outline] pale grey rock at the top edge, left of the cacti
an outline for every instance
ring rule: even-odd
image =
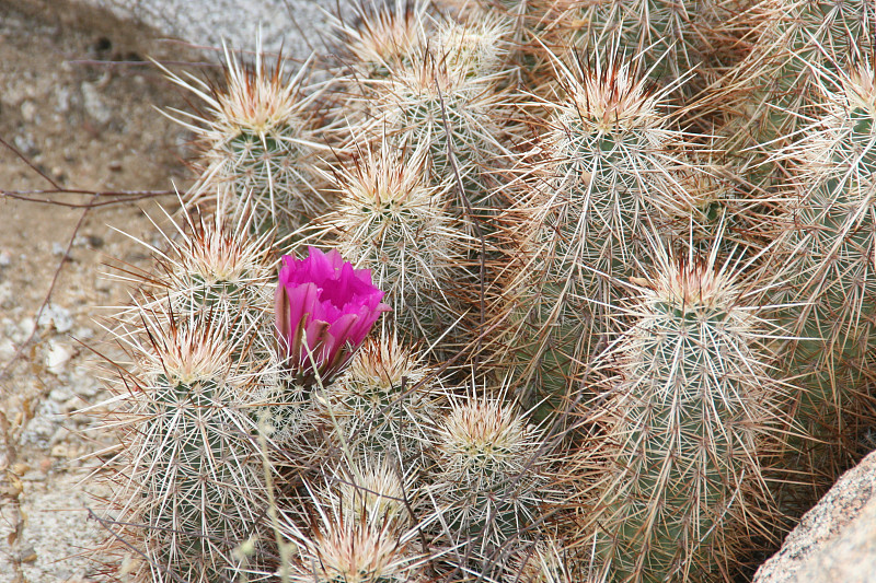
[[[195,45],[252,49],[261,33],[266,50],[284,49],[307,58],[310,46],[322,46],[326,18],[335,0],[79,0],[142,22],[160,33]],[[300,31],[300,32],[299,32]],[[308,38],[301,37],[303,32]]]

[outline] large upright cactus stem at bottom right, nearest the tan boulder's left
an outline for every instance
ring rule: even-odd
[[[609,579],[708,581],[756,534],[782,390],[729,266],[657,259],[614,352],[615,384],[592,411],[615,468],[592,520]]]

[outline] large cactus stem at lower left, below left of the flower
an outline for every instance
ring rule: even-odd
[[[138,580],[232,580],[242,567],[233,550],[262,532],[257,386],[229,343],[228,322],[143,312],[142,326],[118,337],[135,368],[116,386],[114,413],[124,443],[114,505],[123,523],[138,525],[130,529],[149,561]]]

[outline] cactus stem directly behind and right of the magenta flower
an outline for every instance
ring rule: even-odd
[[[471,277],[462,265],[471,244],[449,210],[449,185],[430,185],[427,168],[423,150],[383,142],[361,152],[335,172],[339,199],[323,238],[371,269],[399,329],[435,343],[459,317],[448,292]]]

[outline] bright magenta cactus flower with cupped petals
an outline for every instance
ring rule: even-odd
[[[277,335],[281,355],[299,382],[322,382],[341,372],[382,312],[383,292],[369,269],[354,269],[337,250],[309,247],[307,259],[283,257],[277,285]],[[308,353],[308,350],[313,357]]]

